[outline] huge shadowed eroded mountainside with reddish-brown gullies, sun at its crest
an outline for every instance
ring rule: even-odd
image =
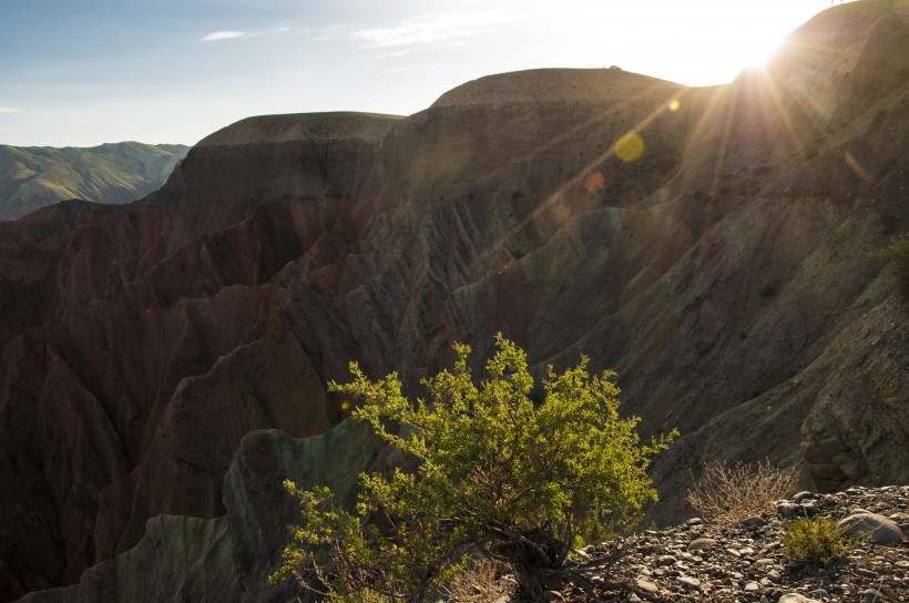
[[[909,231],[907,11],[836,7],[722,88],[542,70],[252,117],[142,203],[0,223],[0,601],[210,551],[247,435],[340,421],[350,360],[416,387],[499,330],[678,427],[661,521],[714,459],[906,483],[907,302],[868,253]]]

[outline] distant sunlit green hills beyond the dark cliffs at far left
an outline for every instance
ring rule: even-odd
[[[121,204],[157,190],[182,144],[121,142],[91,149],[0,146],[0,219],[16,219],[70,198]]]

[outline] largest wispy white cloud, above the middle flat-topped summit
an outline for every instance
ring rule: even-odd
[[[492,11],[431,14],[408,19],[390,28],[364,29],[354,32],[353,37],[374,47],[402,47],[477,35],[519,19],[520,16]]]

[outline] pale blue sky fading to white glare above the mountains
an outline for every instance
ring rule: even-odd
[[[836,3],[839,3],[836,0]],[[470,80],[604,68],[732,81],[830,0],[0,3],[0,144],[194,144],[249,115],[409,115]]]

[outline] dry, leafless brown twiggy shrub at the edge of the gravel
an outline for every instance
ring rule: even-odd
[[[705,466],[686,500],[709,523],[733,524],[769,509],[796,483],[795,471],[780,471],[767,460],[756,466],[724,462]]]

